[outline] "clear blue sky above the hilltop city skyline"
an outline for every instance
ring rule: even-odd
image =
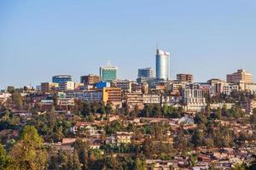
[[[256,76],[256,0],[0,0],[0,88],[98,74],[107,59],[119,78],[154,67],[156,42],[171,75]]]

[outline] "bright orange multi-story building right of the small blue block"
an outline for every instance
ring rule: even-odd
[[[121,88],[103,88],[102,100],[104,103],[111,103],[116,107],[122,105],[122,90]]]

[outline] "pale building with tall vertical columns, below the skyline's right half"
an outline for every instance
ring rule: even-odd
[[[184,88],[183,104],[186,111],[201,111],[206,108],[206,99],[202,89]]]

